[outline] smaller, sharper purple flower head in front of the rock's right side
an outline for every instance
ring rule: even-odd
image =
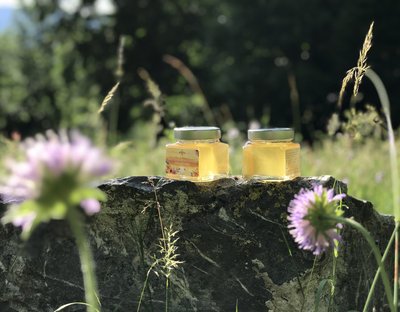
[[[290,202],[288,212],[289,232],[299,247],[319,255],[341,237],[337,229],[342,225],[330,219],[342,214],[337,202],[345,194],[334,195],[333,189],[321,185],[313,190],[302,189]]]

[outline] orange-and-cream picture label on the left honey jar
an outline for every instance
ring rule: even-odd
[[[178,176],[199,176],[199,150],[169,148],[166,155],[166,173]]]

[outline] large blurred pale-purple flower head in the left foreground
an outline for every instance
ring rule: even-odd
[[[11,206],[3,222],[21,226],[25,238],[40,222],[63,219],[80,205],[92,215],[105,195],[89,185],[110,172],[112,163],[100,149],[78,132],[48,131],[21,145],[23,159],[8,160],[9,176],[0,194]]]

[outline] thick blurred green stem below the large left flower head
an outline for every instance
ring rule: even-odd
[[[89,241],[85,235],[82,214],[75,207],[72,207],[68,209],[67,219],[78,247],[83,284],[85,286],[85,300],[88,304],[87,311],[98,312],[100,311],[100,305],[96,296],[98,291],[94,261]]]

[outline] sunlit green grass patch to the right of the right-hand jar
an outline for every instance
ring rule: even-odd
[[[388,143],[378,139],[362,144],[348,137],[327,139],[312,149],[303,146],[302,174],[332,175],[348,184],[350,195],[371,201],[382,213],[392,213],[388,153]]]

